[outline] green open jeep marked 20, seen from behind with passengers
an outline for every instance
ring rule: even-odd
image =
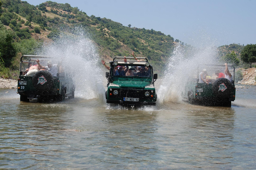
[[[36,62],[38,59],[42,66],[48,65],[47,63],[55,66],[55,73],[52,75],[49,67],[48,70],[39,69]],[[30,67],[31,70],[27,72]],[[74,98],[75,85],[70,69],[65,69],[60,62],[49,56],[23,55],[20,58],[17,93],[20,95],[20,101],[24,102],[29,102],[31,99],[63,101],[65,97]]]

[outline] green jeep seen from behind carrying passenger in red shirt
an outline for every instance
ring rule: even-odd
[[[203,65],[185,87],[185,95],[191,104],[231,107],[235,100],[235,67],[227,65],[233,79],[225,78],[225,65]],[[200,82],[200,73],[207,71],[204,81]]]

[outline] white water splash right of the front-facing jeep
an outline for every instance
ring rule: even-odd
[[[162,84],[157,92],[158,103],[182,102],[182,93],[189,78],[196,78],[198,65],[216,63],[217,48],[212,45],[201,49],[178,44],[168,61]]]

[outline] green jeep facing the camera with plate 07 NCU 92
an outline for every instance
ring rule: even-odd
[[[115,57],[110,61],[110,71],[106,72],[108,79],[107,103],[122,106],[156,105],[156,90],[154,82],[157,74],[153,74],[153,67],[145,57]]]

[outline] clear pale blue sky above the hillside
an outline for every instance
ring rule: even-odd
[[[47,0],[26,0],[39,5]],[[51,0],[193,46],[256,44],[256,0]]]

